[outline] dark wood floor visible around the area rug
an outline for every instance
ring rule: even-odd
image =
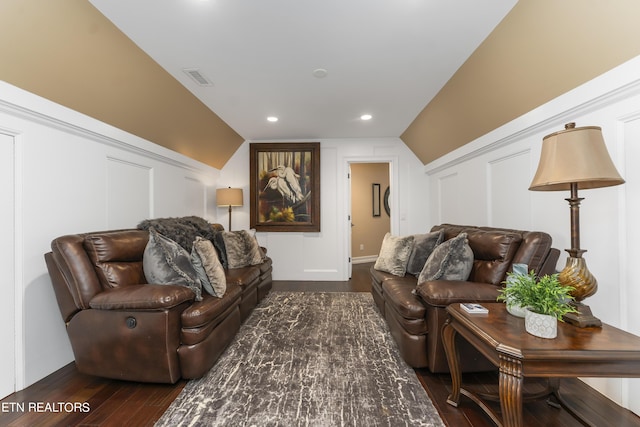
[[[354,265],[348,282],[274,282],[274,291],[369,292],[370,264]],[[460,407],[446,403],[451,381],[448,375],[418,370],[416,375],[427,390],[445,423],[451,427],[493,426],[491,420],[471,400]],[[483,391],[495,391],[495,373],[464,377]],[[54,372],[25,390],[0,401],[0,426],[152,426],[180,393],[186,381],[174,385],[140,384],[107,380],[78,373],[73,363]],[[540,382],[527,383],[526,392],[536,392]],[[577,379],[563,379],[561,391],[593,426],[640,427],[640,418],[621,408]],[[74,409],[74,402],[88,406]],[[47,406],[48,405],[48,406]],[[499,405],[491,404],[497,411]],[[87,410],[87,412],[83,412]],[[525,426],[580,426],[566,410],[545,400],[524,405]],[[363,426],[366,420],[363,420]]]

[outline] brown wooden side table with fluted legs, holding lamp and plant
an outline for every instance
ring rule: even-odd
[[[544,339],[528,334],[524,319],[507,313],[503,303],[485,304],[488,314],[469,314],[459,304],[447,307],[443,329],[452,391],[447,402],[460,403],[464,394],[476,402],[498,426],[522,426],[524,377],[550,378],[550,393],[573,416],[559,390],[561,377],[640,377],[640,337],[609,325],[577,328],[558,323],[558,337]],[[455,336],[460,334],[500,370],[499,399],[502,420],[482,398],[462,388]]]

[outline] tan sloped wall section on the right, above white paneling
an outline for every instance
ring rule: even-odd
[[[638,0],[520,0],[402,140],[425,164],[473,141],[640,55],[639,19]]]

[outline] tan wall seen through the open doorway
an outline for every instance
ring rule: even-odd
[[[372,184],[380,184],[380,216],[373,216]],[[384,190],[389,186],[388,163],[351,164],[351,257],[378,255],[382,239],[390,230],[384,210]],[[360,245],[363,249],[360,249]]]

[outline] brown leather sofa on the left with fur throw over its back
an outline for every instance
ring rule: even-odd
[[[221,230],[222,226],[214,224]],[[120,380],[199,378],[271,289],[271,259],[225,270],[222,298],[146,282],[144,230],[74,234],[45,260],[78,370]]]

